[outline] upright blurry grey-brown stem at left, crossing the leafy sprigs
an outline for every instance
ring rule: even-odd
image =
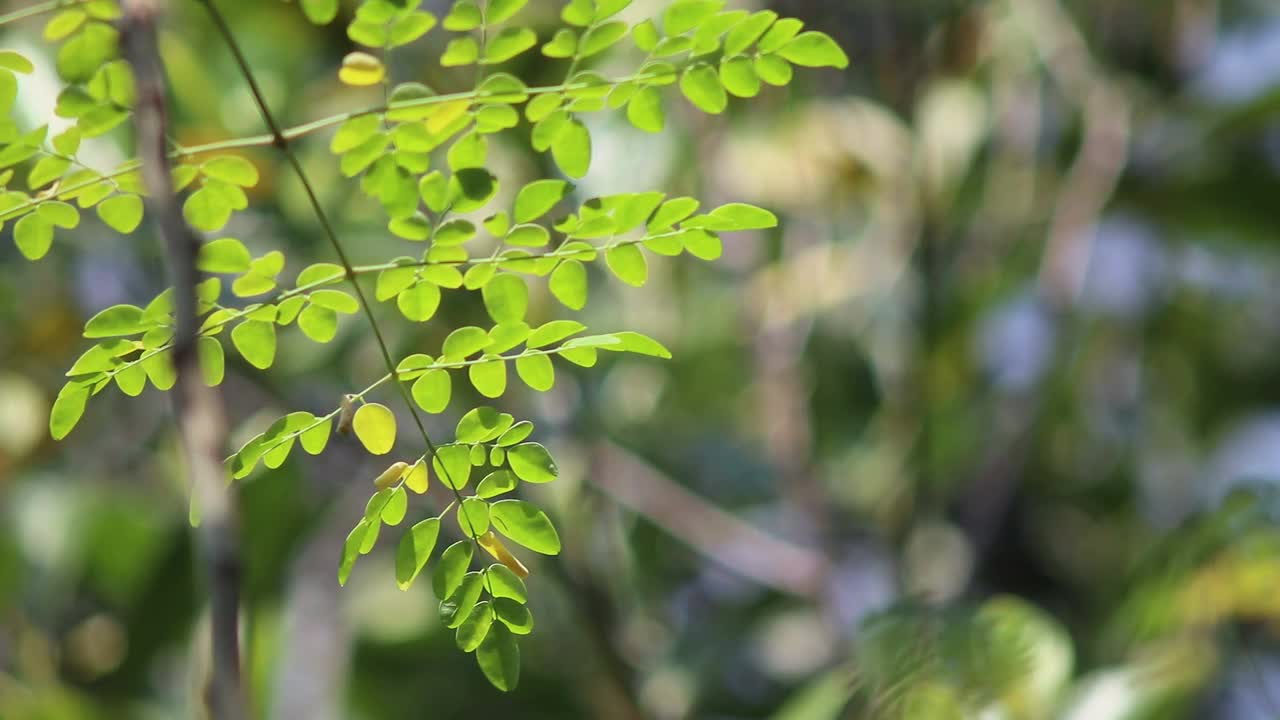
[[[187,455],[192,492],[204,516],[200,534],[209,571],[212,616],[214,659],[206,702],[211,717],[238,720],[246,716],[239,678],[238,516],[236,498],[228,488],[221,462],[227,442],[221,398],[214,388],[205,386],[196,351],[200,332],[196,313],[200,273],[196,270],[196,255],[200,240],[182,218],[182,208],[173,192],[165,147],[166,91],[155,28],[161,5],[163,0],[125,0],[120,42],[124,56],[133,67],[138,88],[134,127],[142,176],[150,191],[150,214],[164,240],[174,287],[177,331],[173,364],[178,379],[173,404]]]

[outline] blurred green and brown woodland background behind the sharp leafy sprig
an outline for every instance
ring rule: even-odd
[[[170,5],[177,138],[261,132],[198,4]],[[221,5],[285,123],[380,101],[337,82],[342,20]],[[548,40],[561,5],[521,18]],[[577,200],[662,188],[782,223],[728,238],[713,264],[654,259],[643,290],[595,268],[580,316],[532,283],[534,318],[637,329],[675,360],[562,365],[550,393],[500,401],[562,470],[532,488],[566,551],[532,565],[518,691],[493,691],[454,648],[425,583],[397,589],[390,543],[338,587],[380,469],[346,441],[239,486],[259,716],[1280,717],[1280,4],[731,5],[801,18],[852,64],[799,69],[722,118],[669,91],[660,136],[588,117]],[[59,90],[41,28],[0,31],[38,59],[23,127]],[[435,61],[447,37],[397,50],[396,81],[470,88]],[[553,85],[564,69],[529,53],[512,72]],[[507,188],[556,173],[526,133],[490,151]],[[114,167],[127,136],[82,156]],[[300,150],[353,260],[402,254],[326,145]],[[225,234],[284,249],[291,278],[333,258],[269,150]],[[207,674],[168,398],[109,391],[67,441],[46,429],[84,319],[164,287],[146,228],[86,220],[36,264],[3,231],[5,720],[191,716]],[[381,306],[397,352],[483,316],[456,295],[425,327]],[[339,332],[282,333],[266,374],[229,361],[233,445],[381,375],[358,319]],[[454,407],[480,401],[463,389]]]

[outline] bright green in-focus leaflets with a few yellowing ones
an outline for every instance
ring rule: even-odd
[[[337,0],[298,5],[315,24],[338,18]],[[315,264],[292,286],[282,286],[282,251],[255,258],[236,237],[206,241],[197,266],[215,277],[200,284],[197,299],[204,380],[216,386],[225,377],[219,336],[228,328],[232,347],[260,370],[274,364],[278,336],[288,325],[296,324],[310,341],[333,341],[342,329],[340,316],[361,311],[352,288],[339,286],[366,274],[376,275],[372,297],[394,302],[410,322],[433,320],[447,293],[477,292],[493,325],[452,329],[438,356],[403,357],[326,415],[284,415],[227,459],[233,478],[247,478],[260,462],[279,468],[296,446],[321,454],[334,429],[353,430],[371,455],[390,455],[397,448],[396,415],[366,400],[387,383],[407,383],[417,409],[440,414],[453,400],[454,373],[465,374],[481,396],[497,400],[511,388],[509,366],[529,388],[548,391],[556,383],[554,359],[593,366],[602,350],[671,356],[639,333],[582,336],[588,328],[575,320],[530,325],[531,284],[545,279],[563,306],[582,310],[588,264],[603,260],[621,282],[640,286],[649,277],[649,254],[671,258],[687,251],[712,260],[721,254],[721,233],[771,228],[776,218],[741,204],[696,214],[696,200],[662,192],[576,199],[573,208],[575,187],[558,178],[508,187],[512,205],[492,208],[503,181],[488,167],[489,138],[518,128],[522,110],[531,126],[531,147],[549,152],[564,176],[581,178],[593,161],[591,132],[581,117],[586,113],[622,110],[635,127],[662,132],[668,86],[678,85],[695,108],[717,114],[728,109],[731,96],[755,96],[762,83],[786,85],[791,65],[842,68],[847,59],[829,37],[800,33],[797,22],[772,12],[726,12],[721,0],[673,0],[658,18],[631,27],[617,19],[628,5],[630,0],[571,0],[561,12],[568,27],[541,42],[532,28],[520,24],[526,0],[457,0],[443,18],[416,1],[364,0],[356,6],[346,36],[369,51],[348,53],[338,78],[355,87],[383,85],[389,104],[310,123],[294,135],[335,127],[329,150],[342,176],[355,178],[360,191],[383,208],[392,236],[425,247],[371,266]],[[77,228],[82,210],[93,208],[101,223],[120,233],[134,232],[143,219],[136,160],[99,172],[78,156],[82,141],[119,127],[136,102],[133,76],[119,59],[119,32],[111,24],[119,17],[115,3],[95,0],[59,8],[45,24],[45,40],[59,45],[56,70],[65,86],[56,111],[74,120],[69,129],[49,137],[47,126],[26,132],[13,123],[0,127],[0,224],[13,223],[14,242],[29,260],[47,255],[63,231]],[[397,85],[390,78],[387,55],[436,27],[448,33],[440,65],[475,65],[472,91],[442,96],[421,83]],[[631,42],[625,44],[628,36]],[[588,61],[611,51],[630,53],[632,45],[643,53],[634,74],[609,78],[585,69]],[[566,61],[562,83],[530,88],[509,73],[494,72],[494,65],[539,46],[545,58]],[[19,76],[33,69],[23,55],[0,53],[0,110],[13,108]],[[260,183],[261,173],[237,152],[256,145],[265,142],[232,140],[170,152],[174,190],[184,193],[183,217],[195,229],[216,233],[248,208],[247,191]],[[14,178],[24,179],[24,188],[10,188]],[[463,217],[480,211],[483,222]],[[232,296],[252,300],[223,305],[224,281]],[[173,387],[173,324],[170,291],[146,307],[116,305],[91,318],[83,334],[96,342],[67,373],[50,413],[52,437],[65,437],[88,400],[110,384],[128,396],[140,395],[148,383],[161,391]],[[503,538],[536,553],[561,550],[545,511],[525,500],[494,500],[518,491],[520,483],[557,478],[552,452],[527,441],[532,429],[531,423],[485,406],[461,413],[453,442],[434,446],[424,437],[420,457],[397,460],[375,478],[375,492],[343,546],[338,571],[346,584],[357,559],[376,546],[381,527],[399,525],[410,512],[410,493],[425,493],[429,475],[435,474],[454,502],[401,534],[396,580],[402,589],[412,585],[452,516],[465,539],[436,561],[433,587],[440,615],[456,629],[458,647],[474,652],[485,676],[503,691],[513,689],[520,676],[515,638],[534,628],[521,579],[529,570]],[[474,495],[463,495],[470,489]],[[475,547],[497,562],[471,570]]]

